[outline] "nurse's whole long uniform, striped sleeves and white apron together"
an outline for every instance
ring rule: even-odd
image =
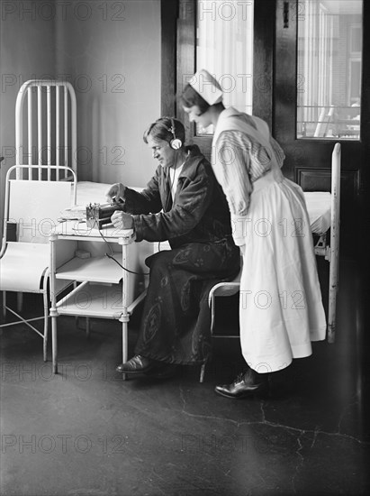
[[[243,254],[241,349],[248,365],[262,373],[309,356],[311,341],[324,339],[326,332],[303,192],[284,178],[283,160],[264,121],[232,107],[221,113],[212,167],[228,198],[234,241]]]

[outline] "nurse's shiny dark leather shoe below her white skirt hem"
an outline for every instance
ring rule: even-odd
[[[226,398],[246,398],[253,394],[266,391],[268,387],[268,374],[257,373],[249,369],[240,373],[231,384],[222,384],[214,388],[217,394]]]

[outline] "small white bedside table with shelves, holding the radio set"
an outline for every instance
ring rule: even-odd
[[[113,318],[122,322],[122,363],[127,362],[128,322],[133,309],[145,297],[145,291],[136,299],[129,295],[129,272],[122,268],[132,271],[129,245],[132,243],[134,249],[133,242],[132,229],[120,230],[109,225],[98,230],[77,221],[63,222],[50,234],[50,317],[54,373],[58,373],[59,315]],[[58,299],[60,292],[72,285],[73,289]]]

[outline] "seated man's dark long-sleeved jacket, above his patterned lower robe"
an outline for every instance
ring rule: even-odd
[[[230,237],[230,211],[212,166],[196,145],[189,152],[171,196],[169,169],[158,166],[145,189],[124,191],[122,210],[133,215],[136,241],[165,241],[171,248],[186,243],[213,243]]]

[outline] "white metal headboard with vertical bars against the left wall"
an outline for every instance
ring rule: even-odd
[[[23,83],[15,105],[15,153],[15,165],[55,166],[47,169],[49,180],[71,179],[66,167],[77,173],[77,105],[70,83]],[[42,170],[19,168],[16,178],[41,179]]]

